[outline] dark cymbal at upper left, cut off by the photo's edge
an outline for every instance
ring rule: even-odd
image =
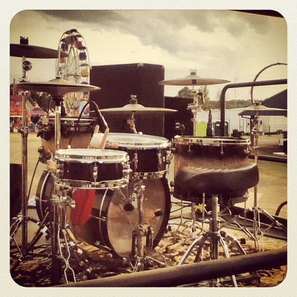
[[[43,47],[32,46],[28,44],[10,44],[10,56],[39,58],[39,59],[57,59],[59,51],[56,49],[48,49]],[[66,58],[68,54],[61,51],[61,58]]]

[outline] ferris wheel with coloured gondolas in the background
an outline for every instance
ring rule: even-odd
[[[68,82],[89,83],[89,55],[82,34],[76,29],[64,32],[59,41],[58,51],[65,52],[68,56],[57,59],[57,76]],[[82,106],[88,99],[89,92],[66,94],[64,97],[66,114],[70,116],[79,115]],[[84,110],[83,115],[87,115],[87,109]]]

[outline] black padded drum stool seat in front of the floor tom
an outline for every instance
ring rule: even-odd
[[[224,194],[251,188],[258,182],[259,170],[255,163],[227,169],[185,166],[175,176],[173,196]]]

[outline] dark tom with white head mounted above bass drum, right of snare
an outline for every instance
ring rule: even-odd
[[[109,133],[106,148],[126,151],[134,180],[161,178],[170,161],[168,139],[132,133]]]

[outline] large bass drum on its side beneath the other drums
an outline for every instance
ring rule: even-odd
[[[170,191],[165,177],[144,180],[146,186],[142,203],[143,223],[149,223],[153,230],[153,247],[163,237],[170,215]],[[53,191],[53,177],[44,172],[37,187],[37,214],[43,220]],[[125,211],[127,199],[125,189],[96,190],[90,218],[84,224],[72,224],[75,237],[93,246],[107,247],[120,257],[129,257],[132,251],[132,232],[138,224],[137,201],[134,209]],[[162,215],[155,216],[161,210]],[[70,214],[71,217],[71,214]]]

